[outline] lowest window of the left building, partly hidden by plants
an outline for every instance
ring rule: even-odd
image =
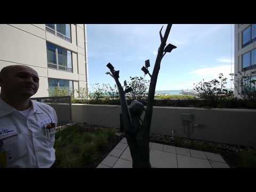
[[[50,97],[56,94],[56,91],[54,91],[56,88],[58,88],[58,90],[60,91],[65,90],[65,92],[67,92],[67,95],[74,94],[73,81],[49,78],[48,85]]]

